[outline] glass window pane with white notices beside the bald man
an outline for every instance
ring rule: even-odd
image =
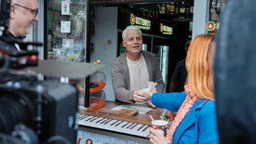
[[[85,61],[85,22],[85,0],[48,0],[47,59]]]

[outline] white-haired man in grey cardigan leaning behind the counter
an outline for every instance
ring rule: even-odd
[[[147,82],[156,82],[156,91],[164,92],[165,84],[155,55],[141,50],[141,30],[128,26],[122,38],[127,51],[111,64],[115,99],[127,103],[147,101],[139,95],[141,89],[148,87]]]

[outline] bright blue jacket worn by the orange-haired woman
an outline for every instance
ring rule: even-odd
[[[155,93],[151,98],[156,107],[178,111],[186,93]],[[173,143],[215,144],[219,142],[215,101],[199,98],[177,128]]]

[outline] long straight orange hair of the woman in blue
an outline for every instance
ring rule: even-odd
[[[190,43],[186,58],[187,84],[193,85],[200,98],[214,100],[213,58],[215,33],[196,36]]]

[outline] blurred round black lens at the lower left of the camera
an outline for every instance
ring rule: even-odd
[[[17,124],[32,124],[31,108],[22,94],[0,89],[0,132],[10,134]]]

